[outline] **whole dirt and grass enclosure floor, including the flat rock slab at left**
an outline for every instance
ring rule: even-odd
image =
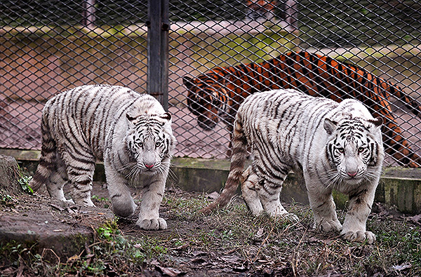
[[[287,205],[300,222],[253,217],[241,197],[211,216],[197,210],[215,195],[169,187],[161,205],[168,229],[145,231],[137,213],[114,219],[105,184],[96,183],[97,208],[62,205],[43,195],[0,201],[0,229],[20,241],[1,242],[1,276],[411,276],[421,273],[421,215],[409,217],[376,203],[368,228],[374,245],[347,243],[311,228],[306,206]],[[140,195],[133,191],[135,201]],[[344,213],[338,211],[343,220]],[[79,234],[86,234],[88,240]],[[408,234],[410,236],[408,236]],[[25,235],[25,238],[23,238]],[[38,243],[24,243],[37,238]],[[30,239],[29,239],[30,241]],[[25,244],[22,247],[21,244]],[[64,246],[63,246],[64,245]],[[66,246],[67,245],[67,246]],[[10,248],[10,245],[9,245]],[[417,250],[418,249],[418,250]],[[37,255],[29,255],[29,252]],[[1,253],[3,252],[3,253]],[[5,253],[8,254],[5,254]],[[413,254],[411,254],[413,253]],[[418,254],[417,254],[418,253]],[[408,254],[410,254],[408,256]]]

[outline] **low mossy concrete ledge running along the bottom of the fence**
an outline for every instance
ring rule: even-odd
[[[29,172],[36,168],[39,151],[0,149],[0,154],[14,156]],[[227,180],[229,161],[204,158],[173,158],[168,184],[185,191],[220,191]],[[105,182],[104,165],[97,164],[95,181]],[[335,193],[338,208],[345,207],[347,196]],[[293,173],[283,186],[281,200],[308,204],[305,185]],[[421,213],[421,168],[384,168],[375,201],[386,203],[409,214]]]

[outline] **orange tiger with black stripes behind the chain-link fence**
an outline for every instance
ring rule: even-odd
[[[215,67],[205,74],[185,76],[189,110],[198,116],[199,126],[213,128],[221,118],[232,133],[239,105],[250,94],[279,88],[295,88],[308,95],[335,101],[355,98],[366,104],[373,116],[382,116],[385,151],[401,165],[421,166],[421,158],[410,149],[392,114],[391,99],[401,100],[410,112],[421,118],[421,104],[389,81],[370,72],[327,56],[289,52],[260,63]]]

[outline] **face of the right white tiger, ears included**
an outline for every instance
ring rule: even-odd
[[[325,119],[323,127],[330,137],[326,158],[333,168],[328,177],[333,184],[360,184],[376,175],[384,155],[381,125],[380,117],[370,121],[345,119],[339,123]]]

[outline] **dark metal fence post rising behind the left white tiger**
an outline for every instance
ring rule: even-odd
[[[148,0],[147,8],[147,93],[168,111],[168,0]]]

